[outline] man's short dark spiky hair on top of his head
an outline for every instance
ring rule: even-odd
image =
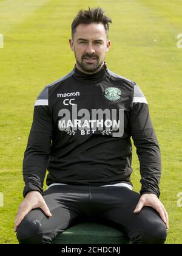
[[[91,8],[89,10],[79,10],[78,15],[72,22],[72,39],[76,32],[76,27],[79,24],[90,24],[90,23],[103,23],[106,29],[107,38],[109,35],[109,23],[112,23],[111,18],[104,15],[104,10],[101,7]]]

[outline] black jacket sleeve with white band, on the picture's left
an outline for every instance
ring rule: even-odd
[[[48,87],[39,94],[35,102],[33,122],[27,148],[24,152],[23,177],[25,187],[23,196],[36,190],[43,193],[43,185],[50,155],[53,130],[49,112]]]

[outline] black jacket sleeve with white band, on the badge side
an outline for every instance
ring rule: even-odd
[[[153,193],[160,197],[161,155],[155,130],[149,115],[147,100],[135,85],[130,112],[130,128],[136,154],[140,161],[140,194]]]

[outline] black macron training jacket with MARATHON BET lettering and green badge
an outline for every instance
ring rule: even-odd
[[[131,138],[140,161],[140,193],[159,197],[160,148],[144,94],[106,62],[89,75],[75,65],[36,99],[23,161],[24,196],[43,193],[46,170],[47,185],[132,185]]]

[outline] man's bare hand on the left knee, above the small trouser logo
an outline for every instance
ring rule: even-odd
[[[35,208],[41,208],[45,215],[47,215],[48,217],[52,216],[41,194],[38,191],[31,191],[27,193],[24,201],[22,201],[18,207],[18,213],[15,219],[15,232],[17,231],[19,224],[21,224],[25,216]]]

